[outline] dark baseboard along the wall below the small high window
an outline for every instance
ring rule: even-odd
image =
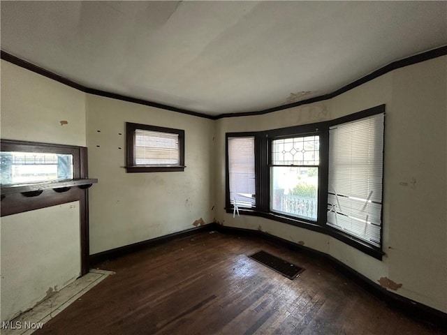
[[[198,227],[182,230],[179,232],[173,232],[172,234],[163,235],[161,237],[155,237],[154,239],[147,239],[145,241],[140,241],[137,243],[129,244],[127,246],[119,246],[118,248],[113,248],[107,251],[101,251],[101,253],[94,253],[89,256],[90,267],[95,267],[105,260],[112,260],[119,258],[123,255],[129,253],[134,253],[135,251],[140,251],[151,246],[156,246],[159,244],[172,241],[173,239],[181,239],[184,237],[189,237],[193,234],[197,234],[200,231],[213,230],[215,228],[214,223],[207,225],[199,225]]]

